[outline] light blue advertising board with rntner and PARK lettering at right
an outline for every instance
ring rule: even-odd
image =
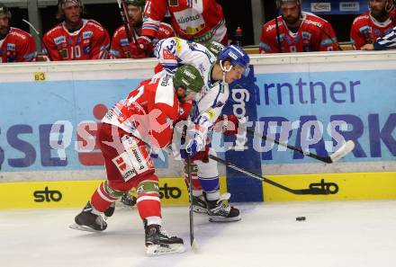
[[[395,70],[257,74],[257,119],[263,122],[265,133],[273,123],[276,138],[287,130],[284,140],[294,147],[309,142],[315,130],[317,138],[307,147],[317,155],[328,156],[339,134],[356,144],[343,161],[394,160],[395,76]],[[302,158],[290,151],[262,154],[265,164],[314,161]]]

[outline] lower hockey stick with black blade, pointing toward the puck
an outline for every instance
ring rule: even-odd
[[[295,195],[328,195],[329,194],[329,191],[327,189],[316,188],[316,187],[310,187],[308,189],[292,189],[292,188],[286,187],[280,183],[269,180],[268,178],[263,177],[261,175],[250,173],[247,170],[242,169],[241,167],[238,167],[237,165],[234,165],[234,164],[230,163],[229,161],[226,161],[220,157],[213,156],[213,155],[208,155],[208,157],[211,158],[212,160],[217,161],[220,164],[226,165],[229,168],[234,169],[242,174],[247,174],[250,177],[253,177],[253,178],[263,181],[263,182],[267,182],[271,185],[274,185],[277,188],[280,188],[284,191],[291,192]]]

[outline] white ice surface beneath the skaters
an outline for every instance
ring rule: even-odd
[[[198,254],[189,246],[187,207],[164,208],[166,230],[184,238],[186,252],[157,257],[145,254],[137,209],[116,209],[103,233],[68,228],[80,209],[3,210],[0,266],[396,266],[396,200],[236,206],[239,222],[195,215]]]

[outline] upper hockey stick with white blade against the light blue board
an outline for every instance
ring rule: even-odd
[[[347,156],[348,153],[350,153],[354,148],[355,148],[355,143],[352,140],[348,140],[344,145],[342,145],[341,147],[338,148],[338,150],[336,152],[334,152],[333,154],[331,154],[330,156],[318,156],[316,154],[313,154],[309,151],[303,151],[301,148],[299,147],[293,147],[289,144],[283,143],[279,140],[273,139],[273,138],[268,138],[267,136],[263,135],[259,135],[257,132],[255,132],[253,129],[246,129],[247,132],[249,134],[252,134],[254,136],[257,136],[259,138],[263,138],[264,140],[268,140],[271,142],[274,142],[275,144],[282,146],[282,147],[287,147],[289,149],[292,149],[294,151],[297,151],[299,153],[301,153],[304,156],[310,156],[314,159],[320,160],[321,162],[327,163],[327,164],[332,164],[335,163],[336,161],[338,161],[340,158]]]

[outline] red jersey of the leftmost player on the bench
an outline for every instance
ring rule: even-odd
[[[0,40],[0,63],[28,62],[36,55],[34,39],[26,31],[11,27],[5,38]]]

